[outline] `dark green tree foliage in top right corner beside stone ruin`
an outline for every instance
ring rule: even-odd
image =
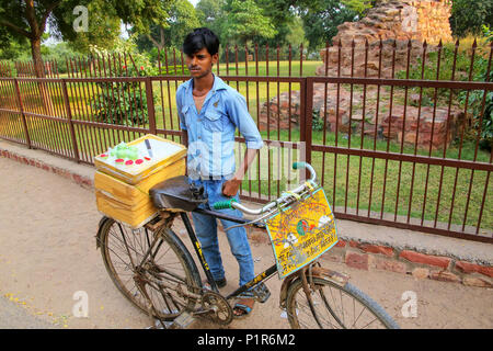
[[[480,34],[484,24],[493,26],[492,0],[452,0],[450,27],[455,36]]]

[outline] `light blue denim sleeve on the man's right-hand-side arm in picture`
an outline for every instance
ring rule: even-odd
[[[240,131],[240,134],[244,137],[246,143],[246,148],[249,149],[261,149],[264,145],[262,136],[256,127],[255,122],[246,106],[246,101],[244,98],[238,93],[236,90],[228,91],[229,99],[227,99],[227,107],[229,117],[231,122]]]

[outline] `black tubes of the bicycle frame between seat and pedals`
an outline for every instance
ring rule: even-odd
[[[239,224],[244,224],[246,222],[249,222],[248,219],[244,218],[239,218],[239,217],[233,217],[233,216],[229,216],[229,215],[225,215],[220,212],[215,212],[215,211],[209,211],[209,210],[203,210],[203,208],[196,208],[193,212],[195,213],[199,213],[202,215],[207,215],[207,216],[211,216],[215,218],[220,218],[220,219],[226,219],[226,220],[230,220],[230,222],[234,222],[234,223],[239,223]],[[195,252],[197,253],[198,260],[200,261],[200,265],[202,269],[204,270],[204,273],[207,276],[207,281],[209,282],[211,288],[219,293],[219,290],[217,287],[217,284],[213,278],[213,274],[210,273],[209,270],[209,265],[207,264],[204,253],[202,252],[202,247],[200,247],[200,242],[197,239],[197,236],[195,235],[195,231],[192,227],[192,224],[190,222],[190,218],[187,216],[187,214],[185,212],[181,213],[182,216],[182,220],[185,224],[185,228],[186,231],[188,233],[188,237],[192,240],[192,244],[194,246]],[[257,228],[265,228],[265,226],[263,224],[253,224],[253,226],[257,227]],[[240,295],[241,293],[245,292],[246,290],[255,286],[256,284],[270,279],[272,275],[274,275],[277,272],[277,265],[273,264],[272,267],[267,268],[265,271],[263,271],[262,273],[260,273],[259,275],[256,275],[254,279],[252,279],[251,281],[244,283],[243,285],[241,285],[239,288],[237,288],[234,292],[232,292],[231,294],[229,294],[228,296],[226,296],[227,299],[236,297],[238,295]]]

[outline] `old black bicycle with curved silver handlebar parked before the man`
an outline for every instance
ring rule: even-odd
[[[307,169],[311,179],[261,208],[249,208],[234,201],[216,203],[211,206],[215,211],[198,208],[199,204],[207,201],[203,196],[203,189],[191,186],[186,177],[181,176],[150,190],[160,214],[142,228],[130,229],[112,218],[103,217],[96,242],[116,287],[163,327],[171,321],[172,327],[186,327],[198,316],[208,317],[219,325],[228,325],[233,319],[229,301],[242,297],[245,292],[253,293],[257,302],[264,303],[270,292],[263,283],[278,272],[278,265],[273,264],[229,295],[221,295],[187,213],[194,211],[238,225],[265,229],[265,218],[272,218],[279,211],[302,202],[320,189],[310,165],[295,162],[294,168]],[[226,207],[257,217],[249,220],[217,211]],[[185,226],[208,285],[200,280],[191,252],[172,230],[173,222],[177,218]],[[286,244],[286,240],[284,242],[293,245]],[[282,284],[279,305],[286,310],[290,327],[399,328],[382,307],[348,283],[348,280],[346,274],[322,268],[318,260],[287,274]]]

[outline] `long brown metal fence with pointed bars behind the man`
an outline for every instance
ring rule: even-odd
[[[294,181],[282,170],[303,158],[339,218],[493,242],[492,152],[481,148],[492,48],[474,42],[465,58],[459,43],[337,43],[321,52],[317,76],[302,47],[296,60],[290,49],[282,60],[279,48],[245,47],[243,63],[227,48],[216,73],[245,97],[266,145],[241,196],[280,195]],[[160,53],[160,76],[125,77],[129,65],[127,55],[68,59],[67,78],[56,63],[50,78],[18,65],[16,78],[0,78],[0,137],[89,165],[147,133],[180,141],[183,54]]]

